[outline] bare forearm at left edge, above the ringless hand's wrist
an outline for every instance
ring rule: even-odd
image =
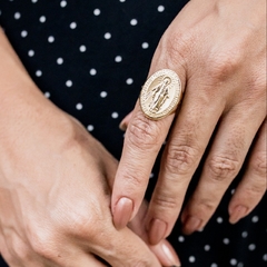
[[[0,29],[0,142],[11,132],[55,117],[58,110],[31,80]],[[50,113],[52,115],[50,116]],[[43,118],[43,119],[42,119]]]

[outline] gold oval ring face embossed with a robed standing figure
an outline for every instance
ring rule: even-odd
[[[165,118],[177,109],[181,95],[181,82],[178,75],[169,69],[159,70],[142,87],[141,110],[149,119]]]

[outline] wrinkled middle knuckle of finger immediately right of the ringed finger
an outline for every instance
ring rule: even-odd
[[[166,169],[171,174],[188,174],[191,166],[195,166],[198,149],[188,145],[171,145],[168,147]]]

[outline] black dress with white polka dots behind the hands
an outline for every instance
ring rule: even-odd
[[[119,158],[119,122],[134,108],[161,34],[186,2],[1,0],[0,23],[44,97],[78,118]],[[159,159],[147,198],[158,166]],[[198,177],[199,171],[186,201]],[[182,267],[267,266],[267,197],[230,225],[227,208],[237,184],[238,178],[202,231],[184,236],[177,220],[169,240]]]

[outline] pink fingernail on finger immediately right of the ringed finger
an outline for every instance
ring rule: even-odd
[[[158,244],[165,238],[167,231],[167,224],[160,219],[152,219],[149,227],[149,243],[151,245]]]

